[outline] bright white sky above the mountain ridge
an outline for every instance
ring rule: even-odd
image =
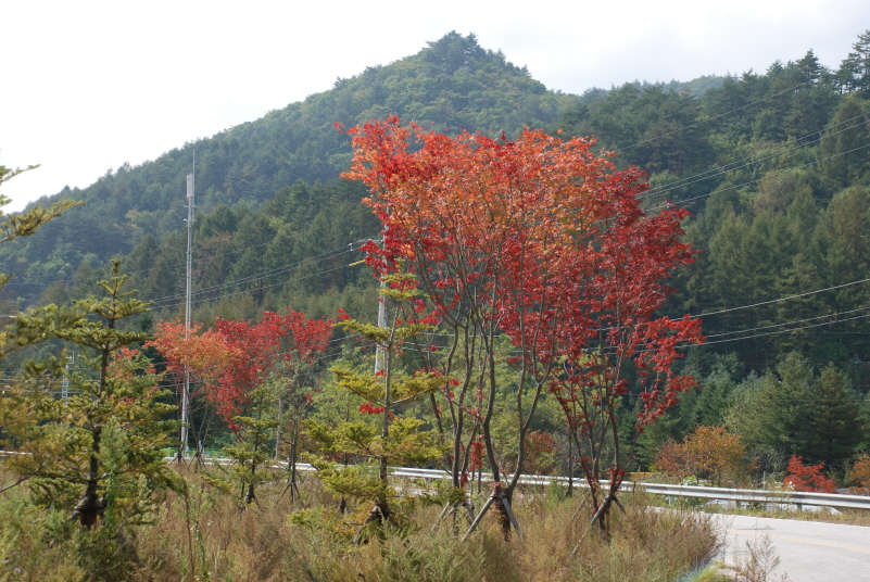
[[[0,164],[41,164],[3,186],[7,211],[256,119],[450,30],[580,93],[764,72],[808,49],[836,67],[870,28],[868,0],[3,4]]]

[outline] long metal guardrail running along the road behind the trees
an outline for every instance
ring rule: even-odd
[[[172,460],[173,457],[166,457]],[[232,463],[232,459],[211,458],[206,459],[212,463]],[[277,461],[273,465],[275,468],[286,468],[287,463]],[[307,463],[298,463],[298,471],[314,471],[314,467]],[[417,469],[409,467],[391,467],[390,475],[393,477],[404,477],[409,479],[450,479],[450,473],[439,469]],[[492,475],[483,473],[483,479],[492,480]],[[575,486],[587,486],[585,480],[573,479]],[[526,485],[549,485],[550,483],[557,482],[564,485],[568,484],[567,477],[546,477],[540,475],[521,475],[519,482]],[[602,481],[602,484],[607,481]],[[632,490],[635,486],[642,489],[646,493],[656,495],[666,495],[672,497],[689,497],[702,499],[722,499],[733,501],[737,504],[742,503],[764,503],[764,504],[787,504],[797,505],[812,505],[820,507],[839,507],[847,509],[868,509],[870,510],[870,496],[866,495],[844,495],[839,493],[806,493],[798,491],[787,490],[755,490],[755,489],[728,489],[728,488],[706,488],[699,485],[669,485],[664,483],[643,483],[643,482],[625,482],[622,486],[627,490]]]

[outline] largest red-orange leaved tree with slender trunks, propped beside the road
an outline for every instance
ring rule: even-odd
[[[640,173],[614,172],[592,140],[540,130],[516,141],[449,137],[396,117],[349,132],[354,161],[345,177],[369,186],[375,195],[365,202],[384,225],[383,245],[366,248],[369,264],[379,274],[407,265],[449,341],[429,367],[445,378],[454,486],[466,482],[472,443],[482,442],[492,501],[510,515],[527,435],[550,388],[577,446],[595,446],[580,454],[590,481],[597,483],[611,435],[610,492],[600,503],[597,485],[592,490],[606,514],[623,472],[616,414],[628,368],[645,387],[641,423],[691,387],[670,364],[679,342],[699,340],[698,322],[653,318],[670,292],[663,281],[692,261],[679,242],[688,213],[646,216],[636,198]],[[490,430],[503,338],[513,344],[518,378],[510,392],[514,443],[495,442]],[[517,451],[513,475],[505,475],[500,450]]]

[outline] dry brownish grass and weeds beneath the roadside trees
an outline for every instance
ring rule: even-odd
[[[15,499],[7,494],[0,499],[0,548],[4,552],[0,559],[7,559],[0,568],[14,562],[17,570],[3,572],[0,579],[51,580],[53,572],[63,571],[54,579],[671,582],[705,562],[718,547],[717,534],[704,516],[647,509],[642,499],[627,496],[627,513],[615,509],[611,514],[610,541],[593,531],[571,558],[588,527],[589,511],[578,510],[577,498],[563,502],[545,491],[527,491],[516,498],[522,540],[514,536],[505,542],[496,519],[488,517],[463,543],[456,535],[467,528],[463,517],[454,528],[451,518],[439,520],[440,507],[406,503],[402,507],[405,527],[387,531],[380,541],[354,545],[350,537],[367,507],[352,507],[355,513],[342,518],[339,499],[323,491],[314,478],[303,485],[297,507],[288,494],[280,495],[281,484],[264,490],[259,507],[243,510],[236,499],[205,485],[196,475],[187,475],[186,481],[186,493],[169,494],[152,524],[130,529],[126,552],[110,543],[114,553],[98,553],[104,561],[119,560],[111,578],[108,570],[89,573],[99,560],[83,561],[80,532],[70,533],[70,528],[47,522],[24,534],[13,532],[9,514],[25,507],[26,501],[22,493]],[[289,519],[300,509],[307,510],[301,514],[304,519]],[[28,511],[48,514],[36,508]],[[21,519],[35,522],[34,515]],[[64,537],[61,530],[68,535]]]

